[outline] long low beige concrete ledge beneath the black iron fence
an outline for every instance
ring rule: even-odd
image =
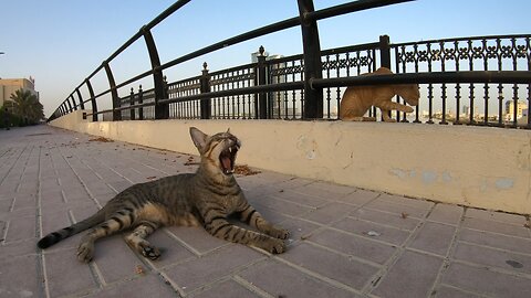
[[[188,128],[227,130],[239,163],[447,203],[531,213],[531,131],[468,126],[282,120],[91,123],[81,110],[50,125],[196,155]]]

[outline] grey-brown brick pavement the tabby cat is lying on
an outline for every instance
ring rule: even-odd
[[[0,297],[531,297],[524,216],[268,171],[237,179],[292,232],[285,254],[194,227],[152,235],[157,262],[122,235],[100,241],[90,265],[75,258],[80,235],[38,249],[128,185],[196,167],[187,155],[91,139],[48,126],[0,131]]]

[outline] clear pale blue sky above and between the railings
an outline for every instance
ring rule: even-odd
[[[0,0],[0,77],[33,77],[45,116],[132,35],[175,1]],[[350,1],[314,0],[315,9]],[[477,35],[529,34],[528,0],[417,0],[319,21],[321,49]],[[153,29],[163,63],[299,13],[295,0],[192,0]],[[302,53],[299,28],[269,34],[176,65],[168,82],[249,63],[260,45],[271,54]],[[117,83],[148,71],[143,40],[111,62]],[[92,84],[108,87],[104,72]],[[149,87],[150,78],[135,83]],[[128,94],[128,87],[119,91]],[[84,98],[87,97],[83,91]],[[102,100],[106,100],[102,98]],[[105,105],[103,105],[105,106]]]

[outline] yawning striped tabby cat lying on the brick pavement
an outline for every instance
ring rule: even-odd
[[[37,244],[46,248],[91,228],[81,240],[77,258],[88,263],[94,242],[118,231],[133,228],[127,244],[144,257],[157,259],[160,251],[146,236],[165,225],[201,225],[211,235],[257,246],[269,253],[285,251],[287,230],[267,222],[246,200],[233,177],[236,155],[241,142],[230,131],[207,136],[191,127],[190,136],[201,156],[196,173],[183,173],[129,187],[88,219],[48,234]],[[231,224],[236,214],[260,232]]]

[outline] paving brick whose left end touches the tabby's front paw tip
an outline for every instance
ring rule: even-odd
[[[280,258],[358,290],[378,272],[377,267],[306,243],[293,247]]]

